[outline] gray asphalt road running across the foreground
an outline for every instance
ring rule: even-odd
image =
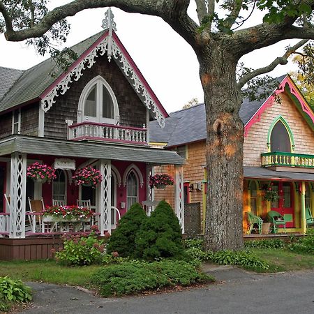
[[[206,271],[216,283],[119,299],[103,299],[74,287],[28,283],[34,291],[33,307],[22,313],[314,313],[314,269],[267,275],[224,267]]]

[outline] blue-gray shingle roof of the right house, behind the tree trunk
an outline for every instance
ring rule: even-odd
[[[278,77],[278,83],[287,75]],[[267,97],[268,98],[268,97]],[[239,116],[244,124],[253,117],[267,98],[250,101],[244,99],[239,110]],[[150,142],[168,143],[167,147],[179,146],[190,142],[206,139],[206,114],[204,103],[188,109],[179,110],[169,114],[165,119],[165,128],[160,128],[156,121],[151,121]]]

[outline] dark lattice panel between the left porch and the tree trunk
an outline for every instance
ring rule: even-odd
[[[184,204],[184,233],[197,237],[201,233],[200,202]]]

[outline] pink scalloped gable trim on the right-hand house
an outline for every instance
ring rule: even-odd
[[[312,121],[314,123],[314,114],[311,110],[311,107],[309,107],[309,105],[306,103],[304,98],[299,93],[299,91],[298,91],[297,87],[295,86],[294,82],[292,81],[290,75],[287,75],[283,79],[283,81],[279,85],[278,89],[276,89],[276,91],[274,91],[274,94],[278,95],[278,94],[283,93],[285,91],[285,84],[289,85],[291,93],[294,94],[294,96],[296,96],[297,99],[299,100],[299,102],[301,103],[302,110],[306,114],[308,114],[308,116],[312,119]],[[260,109],[257,110],[257,112],[255,112],[253,117],[251,117],[251,119],[247,122],[247,124],[244,126],[244,136],[245,137],[248,136],[248,130],[250,130],[251,126],[253,126],[253,124],[255,124],[256,122],[260,121],[263,112],[268,107],[271,107],[274,104],[274,99],[275,99],[275,97],[273,95],[269,96],[269,98],[267,98],[267,100],[265,100],[264,103],[261,105]]]

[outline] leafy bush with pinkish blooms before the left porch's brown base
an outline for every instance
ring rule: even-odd
[[[105,253],[105,240],[98,240],[96,234],[65,236],[63,249],[54,253],[57,262],[66,265],[90,265],[101,262]]]

